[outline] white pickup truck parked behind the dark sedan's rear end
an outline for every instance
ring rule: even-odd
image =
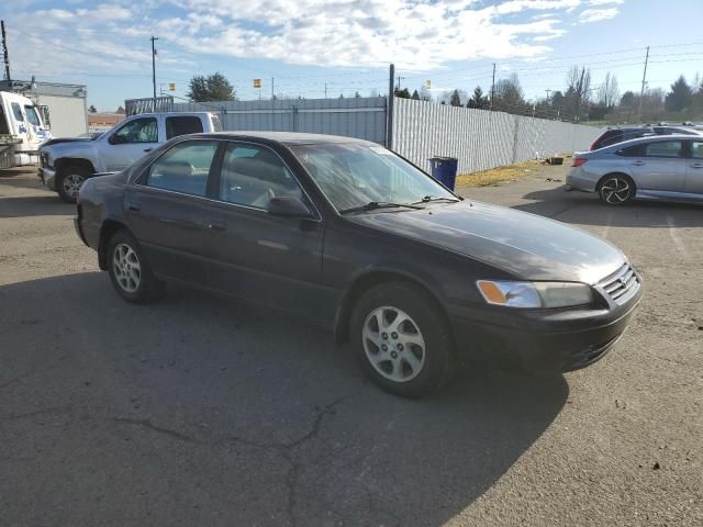
[[[161,143],[185,134],[221,132],[210,112],[132,115],[93,138],[57,138],[40,148],[40,176],[64,201],[76,202],[83,181],[96,173],[118,172]]]

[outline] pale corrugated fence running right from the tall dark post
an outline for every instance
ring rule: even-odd
[[[554,154],[587,150],[603,128],[503,112],[393,101],[393,150],[419,167],[427,159],[459,159],[459,173],[476,172]]]

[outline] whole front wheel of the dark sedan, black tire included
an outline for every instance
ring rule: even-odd
[[[422,397],[455,372],[449,325],[435,299],[416,285],[387,282],[365,292],[350,330],[364,370],[387,392]]]

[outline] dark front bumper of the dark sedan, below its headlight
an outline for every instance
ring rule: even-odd
[[[450,318],[465,363],[479,361],[533,373],[557,373],[585,368],[603,358],[627,329],[641,295],[640,283],[622,305],[609,302],[607,307],[570,310],[491,309],[488,316],[455,311]]]

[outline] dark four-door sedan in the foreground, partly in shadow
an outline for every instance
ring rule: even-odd
[[[76,227],[123,299],[147,302],[180,281],[304,315],[352,340],[370,378],[404,396],[486,359],[588,366],[641,295],[610,243],[462,200],[346,137],[175,138],[89,179]]]

